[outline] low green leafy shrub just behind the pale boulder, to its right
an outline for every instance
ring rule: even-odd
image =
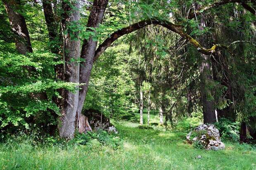
[[[223,140],[239,141],[239,123],[232,122],[228,119],[221,118],[215,123],[216,128],[220,131],[220,136]]]

